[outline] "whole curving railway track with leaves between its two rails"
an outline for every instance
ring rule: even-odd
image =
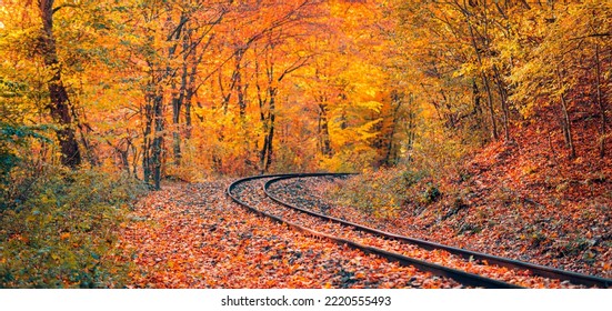
[[[609,288],[612,280],[563,271],[513,259],[479,253],[375,230],[290,204],[271,193],[281,180],[348,174],[274,174],[240,179],[227,189],[237,203],[260,215],[287,223],[310,235],[329,239],[433,275],[451,278],[468,287],[524,288],[535,284]],[[452,267],[452,268],[451,268]]]

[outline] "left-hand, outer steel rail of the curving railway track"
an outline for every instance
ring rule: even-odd
[[[482,288],[489,288],[489,289],[520,289],[520,288],[522,288],[522,287],[519,287],[516,284],[511,284],[511,283],[506,283],[506,282],[503,282],[503,281],[500,281],[500,280],[485,278],[485,277],[482,277],[482,275],[478,275],[478,274],[469,273],[469,272],[465,272],[465,271],[457,270],[457,269],[453,269],[453,268],[448,268],[448,267],[431,263],[431,262],[428,262],[428,261],[410,258],[410,257],[407,257],[407,255],[403,255],[403,254],[390,252],[390,251],[382,250],[382,249],[374,248],[374,247],[370,247],[370,245],[364,245],[364,244],[358,243],[355,241],[351,241],[351,240],[342,239],[342,238],[334,237],[334,235],[331,235],[331,234],[327,234],[327,233],[323,233],[323,232],[319,232],[319,231],[302,227],[300,224],[290,222],[285,219],[273,215],[271,213],[258,210],[257,208],[250,205],[248,202],[244,202],[243,200],[238,198],[238,195],[235,193],[232,193],[232,191],[239,184],[244,183],[244,182],[249,182],[249,181],[253,181],[253,180],[258,180],[258,179],[281,178],[281,177],[287,177],[287,178],[293,177],[293,178],[295,178],[295,177],[307,177],[307,175],[308,177],[313,177],[313,175],[319,175],[319,177],[321,177],[321,175],[347,175],[347,173],[341,173],[341,174],[333,174],[333,173],[270,174],[270,175],[248,177],[248,178],[242,178],[242,179],[233,181],[228,187],[227,194],[234,202],[242,205],[247,210],[249,210],[251,212],[254,212],[255,214],[270,218],[270,219],[272,219],[272,220],[274,220],[279,223],[284,223],[288,227],[290,227],[290,228],[292,228],[297,231],[307,233],[309,235],[317,237],[317,238],[322,238],[322,239],[328,239],[329,241],[332,241],[332,242],[334,242],[339,245],[348,245],[350,248],[363,251],[364,253],[377,254],[377,255],[382,257],[382,258],[384,258],[389,261],[398,262],[400,265],[412,265],[412,267],[414,267],[414,268],[417,268],[421,271],[427,271],[427,272],[430,272],[433,275],[438,275],[438,277],[447,277],[447,278],[450,278],[450,279],[453,279],[453,280],[458,281],[461,284],[470,285],[470,287],[482,287]]]

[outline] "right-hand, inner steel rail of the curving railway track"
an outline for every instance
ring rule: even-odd
[[[503,257],[498,257],[498,255],[493,255],[493,254],[486,254],[486,253],[475,252],[475,251],[471,251],[471,250],[460,249],[460,248],[450,247],[450,245],[445,245],[445,244],[440,244],[440,243],[435,243],[435,242],[431,242],[431,241],[427,241],[427,240],[421,240],[421,239],[400,235],[400,234],[395,234],[395,233],[391,233],[391,232],[387,232],[387,231],[381,231],[381,230],[373,229],[373,228],[370,228],[370,227],[367,227],[367,225],[363,225],[363,224],[350,222],[350,221],[347,221],[347,220],[343,220],[343,219],[324,215],[324,214],[321,214],[321,213],[318,213],[318,212],[314,212],[314,211],[303,209],[303,208],[297,207],[294,204],[284,202],[282,199],[278,198],[277,195],[274,195],[273,193],[270,192],[270,185],[272,185],[273,183],[279,182],[281,180],[289,180],[289,179],[295,179],[295,178],[311,178],[311,177],[320,177],[320,175],[319,174],[300,174],[300,175],[274,177],[274,178],[270,179],[268,182],[265,182],[265,184],[263,185],[263,190],[264,190],[265,194],[272,201],[274,201],[279,204],[282,204],[287,208],[294,209],[294,210],[298,210],[300,212],[304,212],[304,213],[313,215],[313,217],[318,217],[318,218],[323,219],[325,221],[332,221],[332,222],[341,223],[341,224],[344,224],[344,225],[350,225],[350,227],[353,227],[354,229],[357,229],[359,231],[368,232],[368,233],[375,234],[375,235],[379,235],[379,237],[382,237],[382,238],[399,240],[399,241],[402,241],[402,242],[405,242],[405,243],[418,245],[418,247],[427,249],[427,250],[444,250],[444,251],[448,251],[452,254],[457,254],[457,255],[460,255],[460,257],[465,258],[465,259],[475,259],[475,260],[480,260],[481,262],[486,261],[488,264],[495,264],[495,265],[511,268],[511,269],[529,270],[535,275],[540,275],[540,277],[544,277],[544,278],[549,278],[549,279],[558,279],[558,280],[569,281],[573,284],[581,284],[581,285],[588,285],[588,287],[598,287],[598,288],[610,288],[610,287],[612,287],[612,279],[605,279],[605,278],[600,278],[600,277],[595,277],[595,275],[582,274],[582,273],[561,270],[561,269],[556,269],[556,268],[552,268],[552,267],[535,264],[535,263],[531,263],[531,262],[526,262],[526,261],[520,261],[520,260],[515,260],[515,259],[503,258]]]

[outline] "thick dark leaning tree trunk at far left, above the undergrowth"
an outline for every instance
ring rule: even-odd
[[[53,37],[53,0],[39,0],[39,9],[43,26],[40,51],[44,67],[53,72],[47,84],[50,99],[48,108],[53,120],[60,126],[56,134],[61,149],[61,163],[62,165],[76,169],[81,164],[81,153],[74,128],[72,127],[70,99],[63,87],[56,38]]]

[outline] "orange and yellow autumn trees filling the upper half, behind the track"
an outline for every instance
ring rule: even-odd
[[[32,157],[153,188],[459,157],[541,113],[568,157],[605,157],[611,18],[596,0],[2,0],[0,121],[48,126]],[[576,141],[584,113],[599,130]]]

